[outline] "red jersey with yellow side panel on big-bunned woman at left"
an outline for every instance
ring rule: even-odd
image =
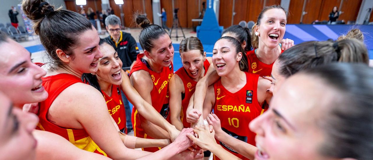
[[[71,74],[57,74],[54,76],[42,77],[41,79],[43,80],[43,86],[49,95],[45,101],[39,103],[38,117],[40,120],[37,129],[56,133],[57,135],[66,138],[80,149],[107,156],[106,153],[101,150],[95,142],[93,142],[84,129],[66,129],[51,123],[47,119],[50,105],[53,103],[54,99],[56,99],[57,96],[67,87],[75,83],[82,83],[82,80]]]

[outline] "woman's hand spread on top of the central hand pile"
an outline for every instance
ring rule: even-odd
[[[210,126],[208,124],[206,124],[204,128],[200,126],[195,126],[195,129],[193,131],[194,133],[197,133],[198,138],[196,138],[192,134],[188,134],[188,137],[192,139],[195,144],[197,144],[204,150],[210,150],[215,145],[218,145],[214,138],[215,131],[212,130],[212,132],[210,132]]]

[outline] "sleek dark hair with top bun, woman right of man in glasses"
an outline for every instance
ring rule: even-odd
[[[136,24],[142,28],[139,36],[140,45],[142,49],[150,52],[154,47],[153,40],[167,34],[167,32],[159,25],[150,24],[149,19],[145,15],[137,13],[134,16]]]

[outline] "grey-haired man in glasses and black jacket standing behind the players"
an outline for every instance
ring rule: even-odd
[[[120,30],[120,19],[116,15],[109,15],[105,19],[106,30],[110,36],[105,39],[110,42],[114,49],[118,52],[118,56],[122,61],[122,67],[131,67],[135,64],[136,58],[140,51],[138,50],[136,40],[129,33]],[[121,91],[122,92],[122,91]],[[126,125],[128,132],[132,130],[131,110],[128,100],[122,92],[123,105],[126,112]]]

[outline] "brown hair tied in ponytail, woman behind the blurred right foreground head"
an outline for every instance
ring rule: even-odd
[[[277,61],[282,76],[332,62],[369,63],[366,46],[356,39],[341,41],[307,41],[280,54]]]

